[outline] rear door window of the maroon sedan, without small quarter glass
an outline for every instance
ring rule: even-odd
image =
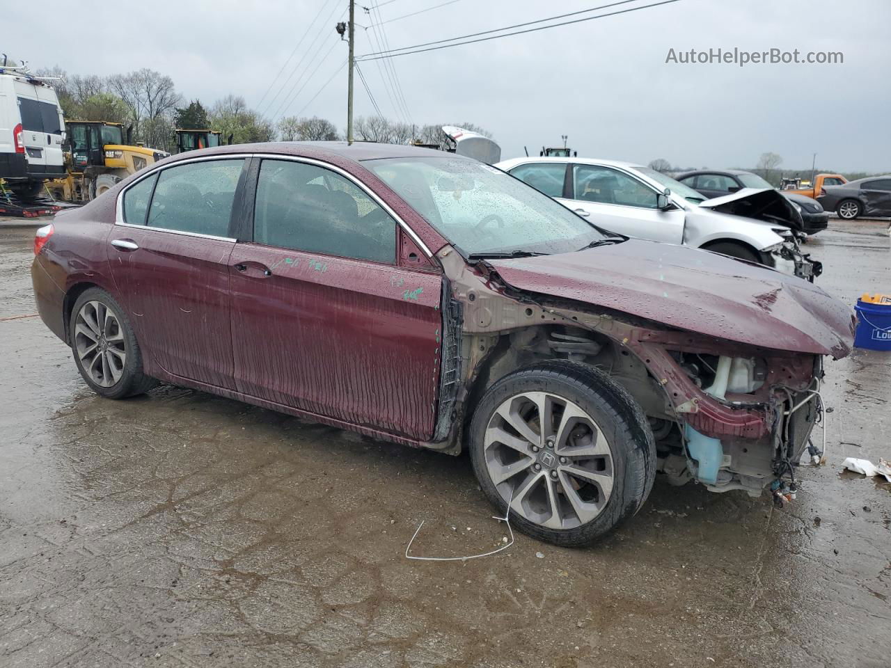
[[[243,166],[244,159],[202,160],[162,170],[151,198],[148,226],[229,237]]]

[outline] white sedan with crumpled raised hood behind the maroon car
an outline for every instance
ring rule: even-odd
[[[813,280],[800,252],[801,216],[777,191],[746,188],[714,200],[649,167],[616,160],[514,158],[495,165],[599,227],[705,248]]]

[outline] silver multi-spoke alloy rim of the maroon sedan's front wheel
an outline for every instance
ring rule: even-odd
[[[511,509],[550,529],[601,514],[613,488],[613,458],[601,428],[576,403],[547,392],[511,396],[492,415],[486,469]]]

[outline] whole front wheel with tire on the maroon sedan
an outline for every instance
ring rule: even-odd
[[[470,426],[479,484],[511,524],[558,545],[593,542],[641,508],[656,445],[640,406],[601,371],[555,360],[486,391]]]

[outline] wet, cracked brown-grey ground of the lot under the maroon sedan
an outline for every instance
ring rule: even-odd
[[[190,390],[86,389],[0,223],[0,665],[888,666],[891,354],[830,363],[828,463],[797,501],[657,481],[586,550],[506,535],[470,462]],[[891,292],[887,223],[808,248]],[[816,436],[820,436],[819,433]]]

